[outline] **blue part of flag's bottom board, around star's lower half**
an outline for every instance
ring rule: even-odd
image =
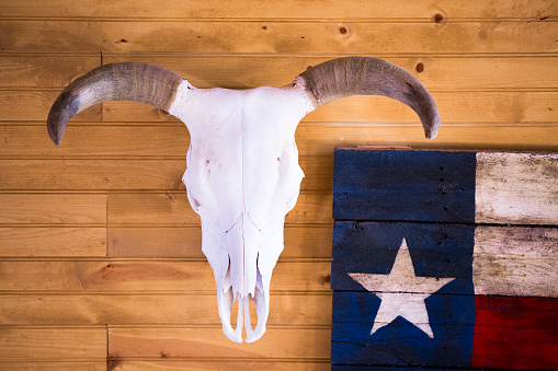
[[[474,295],[425,299],[434,338],[401,316],[371,335],[379,304],[372,292],[333,293],[332,364],[470,367]]]

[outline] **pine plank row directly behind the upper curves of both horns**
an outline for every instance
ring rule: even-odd
[[[414,73],[431,91],[558,86],[557,57],[553,55],[399,57],[365,54],[363,56],[383,58],[405,68]],[[103,53],[102,59],[104,65],[132,60],[163,66],[180,73],[197,88],[247,89],[261,85],[285,85],[309,66],[316,66],[335,57],[334,54],[316,57]],[[0,54],[0,86],[62,88],[75,78],[100,65],[99,53]]]

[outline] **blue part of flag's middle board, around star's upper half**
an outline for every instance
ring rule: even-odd
[[[350,273],[388,275],[403,237],[417,276],[471,280],[472,225],[335,221],[331,288],[365,290]],[[458,291],[452,293],[472,293],[453,288]]]

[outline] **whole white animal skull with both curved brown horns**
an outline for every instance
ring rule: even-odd
[[[282,88],[244,91],[196,89],[175,72],[147,63],[106,65],[60,93],[47,127],[59,146],[73,115],[105,101],[147,103],[185,123],[191,142],[183,182],[202,219],[202,250],[215,274],[223,331],[242,343],[246,327],[250,343],[265,332],[285,215],[295,206],[304,177],[296,127],[312,109],[350,95],[396,98],[414,109],[428,138],[436,136],[439,113],[422,83],[390,62],[366,57],[323,62]],[[255,328],[249,301],[258,314]],[[234,329],[230,312],[236,302]]]

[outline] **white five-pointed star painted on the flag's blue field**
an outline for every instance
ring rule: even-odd
[[[371,335],[400,315],[422,329],[430,338],[434,338],[434,333],[430,327],[424,299],[455,279],[417,277],[405,239],[389,275],[349,274],[349,276],[382,299]]]

